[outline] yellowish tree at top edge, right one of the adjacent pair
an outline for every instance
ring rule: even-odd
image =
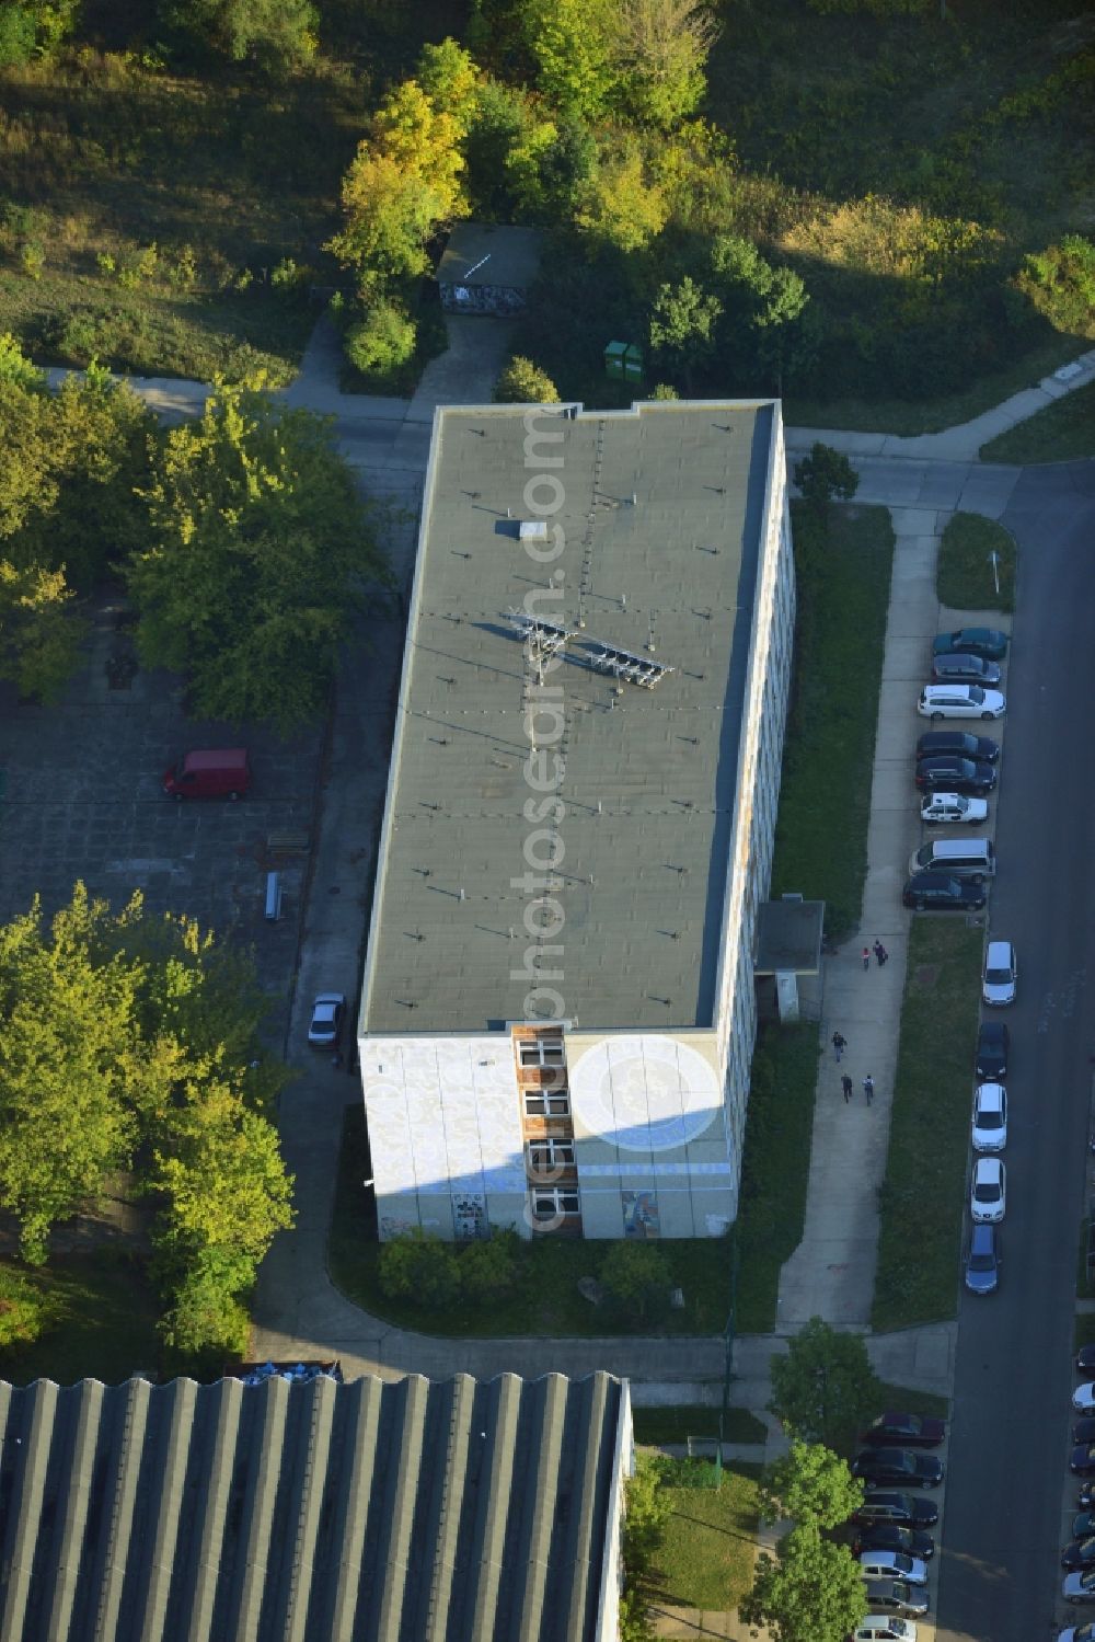
[[[693,113],[706,90],[704,64],[717,34],[704,0],[624,0],[611,61],[627,112],[663,130]]]

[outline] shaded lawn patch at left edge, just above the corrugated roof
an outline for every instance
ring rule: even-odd
[[[18,1261],[0,1264],[26,1274]],[[140,1261],[99,1250],[94,1256],[54,1256],[31,1276],[53,1322],[33,1345],[0,1351],[0,1379],[16,1386],[102,1379],[115,1386],[135,1369],[161,1369],[159,1307]]]

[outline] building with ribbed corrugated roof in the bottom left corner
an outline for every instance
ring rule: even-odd
[[[627,1383],[0,1384],[3,1642],[614,1642]]]

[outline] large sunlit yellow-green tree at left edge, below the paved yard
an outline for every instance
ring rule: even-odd
[[[0,1199],[31,1264],[57,1220],[97,1200],[130,1163],[126,1094],[136,980],[99,961],[103,901],[77,885],[43,931],[41,903],[0,928]]]

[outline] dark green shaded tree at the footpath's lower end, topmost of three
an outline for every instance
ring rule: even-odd
[[[837,1333],[811,1317],[786,1356],[772,1358],[772,1402],[783,1425],[804,1442],[849,1453],[878,1407],[880,1381],[860,1335]]]

